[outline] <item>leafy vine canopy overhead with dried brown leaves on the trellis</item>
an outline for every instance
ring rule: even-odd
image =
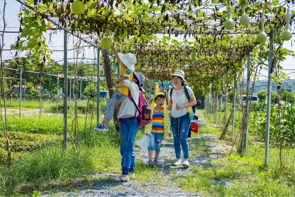
[[[118,39],[120,49],[136,53],[138,67],[152,79],[169,80],[173,70],[181,68],[191,73],[191,82],[206,78],[201,82],[204,85],[227,70],[236,70],[240,67],[236,63],[259,45],[256,35],[261,29],[262,13],[268,35],[284,29],[286,7],[291,9],[291,29],[295,24],[294,0],[81,1],[86,7],[81,15],[72,13],[73,0],[28,0],[27,4],[43,18],[54,19],[73,32],[89,34],[98,44],[103,37]],[[231,31],[224,27],[228,4],[235,22]],[[239,22],[241,5],[250,17],[247,26]],[[127,31],[127,39],[118,36],[121,30]],[[196,58],[191,57],[193,47],[197,49]],[[233,53],[235,60],[231,59]]]

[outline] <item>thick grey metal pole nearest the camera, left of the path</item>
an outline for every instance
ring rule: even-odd
[[[67,32],[63,31],[63,148],[67,145]]]

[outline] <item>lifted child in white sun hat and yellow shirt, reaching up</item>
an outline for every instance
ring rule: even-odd
[[[112,45],[112,49],[115,53],[115,57],[121,66],[121,72],[118,79],[115,82],[118,84],[123,80],[132,80],[133,72],[135,70],[134,65],[136,63],[136,57],[133,53],[122,54],[118,53],[115,45]],[[104,111],[104,119],[101,124],[99,124],[95,131],[109,131],[108,124],[110,123],[111,119],[113,118],[115,112],[115,104],[120,103],[123,99],[128,96],[129,88],[126,86],[122,86],[118,88],[118,91],[113,95],[113,97],[109,100],[105,107]]]

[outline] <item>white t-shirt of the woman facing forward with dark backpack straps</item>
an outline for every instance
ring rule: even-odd
[[[191,94],[193,94],[193,90],[190,87],[186,86],[186,88],[187,88],[187,92],[188,92],[189,96]],[[171,92],[171,89],[168,91],[168,99],[171,99],[170,92]],[[183,89],[181,89],[181,90],[175,90],[175,88],[173,89],[173,91],[172,91],[172,108],[171,108],[171,116],[172,117],[178,118],[178,117],[183,116],[187,113],[186,107],[184,107],[180,110],[176,109],[177,104],[185,104],[184,97],[186,97],[186,96],[185,96]],[[189,101],[187,100],[187,102],[189,102]]]

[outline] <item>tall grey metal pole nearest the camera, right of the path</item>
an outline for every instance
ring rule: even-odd
[[[270,102],[271,102],[271,77],[272,77],[272,35],[269,36],[269,57],[268,57],[268,79],[267,79],[267,109],[266,109],[266,158],[265,165],[268,165],[269,156],[269,126],[270,126]]]

